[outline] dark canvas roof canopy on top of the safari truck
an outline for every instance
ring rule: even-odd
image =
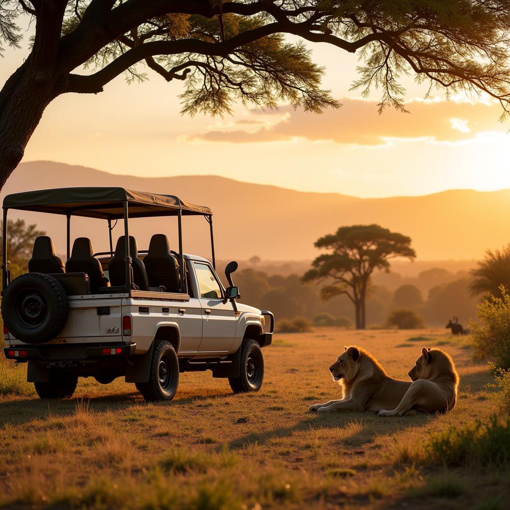
[[[124,216],[124,202],[130,218],[148,216],[212,215],[208,207],[194,206],[173,195],[156,195],[124,188],[55,188],[13,193],[4,198],[4,209],[41,213],[118,219]]]

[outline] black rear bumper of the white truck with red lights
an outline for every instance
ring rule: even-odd
[[[109,351],[108,353],[106,351]],[[135,353],[136,344],[91,344],[91,345],[46,345],[4,347],[5,357],[18,363],[36,362],[90,362],[94,360],[118,359]]]

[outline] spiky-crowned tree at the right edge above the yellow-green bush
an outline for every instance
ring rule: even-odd
[[[501,285],[510,290],[510,244],[501,250],[487,250],[485,258],[471,270],[469,288],[473,295],[502,297]]]

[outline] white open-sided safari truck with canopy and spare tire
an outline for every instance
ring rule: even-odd
[[[221,284],[209,208],[171,195],[94,187],[11,194],[3,208],[4,352],[28,363],[27,379],[41,398],[70,397],[79,377],[92,376],[102,384],[125,377],[145,400],[170,400],[180,372],[205,370],[228,378],[235,393],[261,388],[261,348],[271,343],[274,318],[236,302],[237,262],[225,268],[230,286]],[[11,282],[10,209],[65,215],[67,262],[56,256],[49,237],[38,237],[29,272]],[[188,215],[201,215],[210,225],[212,264],[183,253],[182,218]],[[71,251],[72,216],[106,220],[110,250],[94,253],[82,237]],[[129,219],[155,216],[177,218],[179,251],[170,250],[168,238],[159,233],[147,250],[138,251]],[[115,250],[114,220],[124,226]]]

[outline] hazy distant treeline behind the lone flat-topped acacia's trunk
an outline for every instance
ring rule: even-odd
[[[430,326],[445,326],[452,316],[466,323],[474,317],[479,298],[469,292],[470,278],[439,270],[426,271],[436,285],[426,285],[420,273],[422,292],[412,284],[404,284],[394,291],[386,286],[372,285],[367,298],[367,325],[384,325],[393,310],[414,310]],[[444,283],[438,283],[438,275]],[[277,319],[305,317],[312,321],[317,314],[328,313],[334,317],[348,317],[354,321],[352,303],[346,296],[336,296],[327,301],[320,298],[320,285],[302,283],[300,275],[282,276],[248,268],[235,273],[235,283],[241,293],[240,301],[262,310],[271,310]]]

